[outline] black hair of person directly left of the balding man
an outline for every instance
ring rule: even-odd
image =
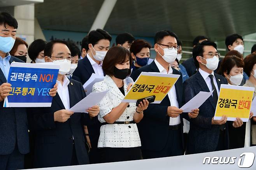
[[[39,52],[44,50],[45,47],[46,47],[46,41],[42,39],[37,39],[33,41],[28,47],[28,56],[33,62],[35,62],[35,59],[39,55]]]

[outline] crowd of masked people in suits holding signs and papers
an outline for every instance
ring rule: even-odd
[[[112,37],[103,29],[90,31],[81,49],[64,40],[35,40],[29,46],[16,37],[18,22],[0,12],[0,169],[84,165],[162,158],[256,145],[256,117],[214,120],[221,84],[256,87],[256,45],[244,57],[238,34],[226,37],[223,59],[206,36],[193,41],[192,57],[179,63],[182,42],[169,30],[158,31],[154,45],[123,33]],[[156,52],[149,64],[150,49]],[[5,108],[11,91],[10,64],[48,62],[60,65],[49,94],[51,107]],[[160,104],[122,102],[142,72],[180,75]],[[86,97],[83,84],[91,75],[105,76],[92,92],[109,90],[85,113],[68,111]],[[199,107],[181,108],[200,91],[213,94]],[[254,97],[256,91],[254,91]]]

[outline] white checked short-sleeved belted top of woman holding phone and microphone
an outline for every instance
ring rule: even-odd
[[[124,80],[124,93],[127,94],[127,82]],[[116,108],[124,99],[124,95],[117,87],[116,83],[108,75],[102,82],[93,85],[94,92],[109,90],[107,95],[100,101],[100,113],[98,120],[106,122],[104,116]],[[122,115],[116,121],[133,121],[136,104],[130,103]],[[131,124],[107,124],[100,127],[100,137],[98,147],[139,147],[140,135],[136,123]],[[125,153],[124,153],[125,154]]]

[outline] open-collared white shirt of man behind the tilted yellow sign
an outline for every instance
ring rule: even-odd
[[[165,68],[163,68],[163,66],[156,59],[154,60],[154,62],[156,63],[156,66],[159,69],[160,73],[172,74],[172,67],[170,65],[169,65],[169,72],[167,72],[167,70]],[[169,97],[171,106],[175,106],[175,107],[179,108],[175,86],[173,86],[171,88],[171,90],[168,92],[168,97]],[[180,123],[181,123],[180,116],[178,116],[176,118],[170,117],[169,125],[179,125]]]

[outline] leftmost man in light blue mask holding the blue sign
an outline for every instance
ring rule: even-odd
[[[0,169],[23,169],[24,155],[29,152],[26,108],[4,108],[4,99],[11,91],[7,83],[12,62],[23,62],[9,54],[18,23],[7,12],[0,12]],[[57,88],[49,94],[56,95]]]

